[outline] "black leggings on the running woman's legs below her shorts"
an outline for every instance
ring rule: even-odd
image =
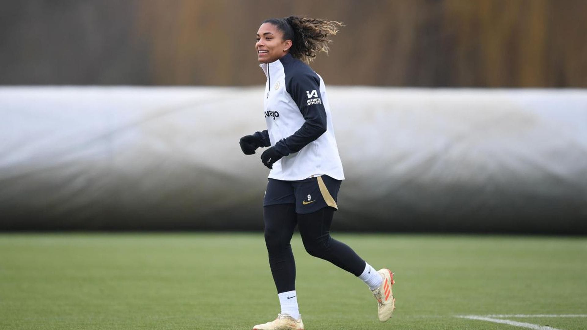
[[[355,276],[365,270],[365,261],[348,245],[330,237],[334,208],[325,207],[310,214],[295,213],[295,204],[277,204],[263,208],[265,244],[269,266],[277,292],[295,290],[295,261],[291,241],[298,225],[303,247],[314,257],[328,260]]]

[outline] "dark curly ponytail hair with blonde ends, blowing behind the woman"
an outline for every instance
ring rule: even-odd
[[[310,63],[319,52],[328,54],[328,37],[336,35],[343,23],[325,21],[317,18],[289,16],[286,18],[269,18],[263,23],[271,23],[284,33],[284,40],[291,40],[289,53],[294,58]]]

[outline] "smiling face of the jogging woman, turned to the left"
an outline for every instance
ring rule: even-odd
[[[292,46],[291,40],[284,40],[284,33],[272,23],[262,23],[257,31],[257,56],[261,63],[271,63],[282,58]]]

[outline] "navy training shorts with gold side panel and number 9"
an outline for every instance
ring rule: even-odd
[[[295,204],[295,211],[308,214],[330,206],[338,210],[336,197],[342,180],[327,175],[298,181],[269,179],[263,206]]]

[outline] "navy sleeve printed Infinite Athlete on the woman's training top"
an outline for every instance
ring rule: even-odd
[[[299,62],[286,67],[285,87],[306,120],[294,134],[275,143],[275,149],[287,156],[326,132],[326,110],[320,95],[320,78],[309,66]]]

